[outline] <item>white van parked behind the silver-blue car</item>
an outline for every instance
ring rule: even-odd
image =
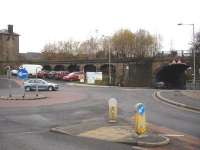
[[[25,68],[29,76],[36,76],[36,73],[40,72],[43,67],[41,65],[23,64],[19,68]]]

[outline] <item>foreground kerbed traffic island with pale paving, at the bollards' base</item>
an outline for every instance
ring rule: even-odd
[[[87,122],[72,126],[55,127],[50,131],[71,136],[93,138],[141,147],[162,146],[168,144],[170,141],[167,137],[153,133],[137,136],[133,127],[127,123],[117,123],[115,125],[103,123],[100,125],[97,123]]]

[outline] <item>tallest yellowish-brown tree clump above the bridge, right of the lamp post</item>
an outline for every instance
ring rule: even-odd
[[[112,37],[114,53],[117,57],[145,57],[161,48],[159,38],[145,30],[132,33],[130,30],[119,30]]]

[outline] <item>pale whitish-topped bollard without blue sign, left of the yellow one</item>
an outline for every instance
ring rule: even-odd
[[[115,98],[108,101],[108,119],[110,123],[117,122],[117,100]]]

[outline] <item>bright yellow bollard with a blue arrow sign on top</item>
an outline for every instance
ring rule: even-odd
[[[133,117],[135,123],[135,132],[138,135],[142,135],[146,132],[146,119],[145,119],[145,110],[142,103],[135,105],[135,115]]]

